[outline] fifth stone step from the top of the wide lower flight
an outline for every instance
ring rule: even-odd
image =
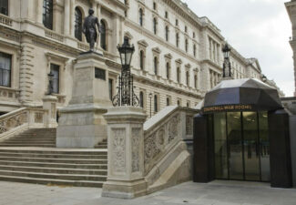
[[[28,177],[36,179],[65,179],[65,180],[97,180],[105,181],[107,176],[103,175],[81,175],[81,174],[56,174],[56,173],[37,173],[29,171],[0,170],[0,175]]]

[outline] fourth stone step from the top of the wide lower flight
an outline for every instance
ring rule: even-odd
[[[72,174],[72,175],[101,175],[107,176],[107,169],[63,169],[63,168],[39,168],[24,166],[0,165],[0,170],[54,173],[54,174]]]

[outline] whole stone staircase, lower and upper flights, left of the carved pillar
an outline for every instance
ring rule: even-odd
[[[105,148],[104,143],[98,146]],[[54,147],[55,128],[30,129],[0,143],[0,180],[102,187],[107,179],[107,149]]]

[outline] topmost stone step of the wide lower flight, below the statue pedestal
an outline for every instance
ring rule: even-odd
[[[36,154],[69,154],[69,155],[107,155],[107,149],[38,149],[38,148],[0,148],[1,152],[36,153]]]

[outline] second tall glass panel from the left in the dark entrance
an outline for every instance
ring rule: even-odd
[[[227,113],[230,179],[243,179],[240,112]]]

